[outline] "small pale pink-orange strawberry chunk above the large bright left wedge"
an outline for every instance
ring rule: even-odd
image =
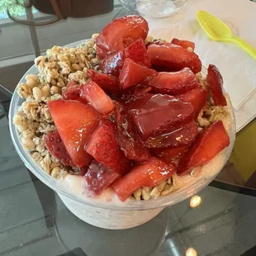
[[[81,85],[80,97],[86,99],[102,115],[110,113],[115,108],[111,98],[92,81]]]

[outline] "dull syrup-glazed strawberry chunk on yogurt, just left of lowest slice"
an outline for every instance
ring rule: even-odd
[[[83,176],[83,181],[88,192],[98,195],[119,177],[120,175],[113,169],[93,160],[88,172]]]

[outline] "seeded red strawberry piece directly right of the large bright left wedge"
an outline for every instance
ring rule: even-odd
[[[116,141],[116,130],[109,120],[102,120],[96,130],[93,131],[86,146],[86,151],[97,162],[106,165],[117,173],[125,173],[123,169],[124,158]]]

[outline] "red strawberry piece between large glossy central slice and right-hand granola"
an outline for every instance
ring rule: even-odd
[[[179,95],[178,98],[182,102],[191,103],[192,107],[194,108],[195,118],[197,119],[202,107],[206,105],[207,91],[203,88],[196,88],[187,93]]]

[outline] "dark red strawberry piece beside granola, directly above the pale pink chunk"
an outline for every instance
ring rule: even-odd
[[[102,88],[104,91],[119,94],[121,88],[119,87],[119,79],[109,76],[105,73],[98,73],[93,69],[88,69],[88,78],[91,78],[94,83]]]

